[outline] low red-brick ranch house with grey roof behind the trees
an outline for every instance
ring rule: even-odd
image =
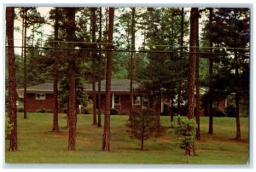
[[[105,106],[105,85],[106,80],[102,80],[102,109]],[[98,83],[96,82],[96,108],[97,103]],[[85,83],[84,91],[92,100],[92,84]],[[17,89],[17,94],[20,99],[23,99],[24,89]],[[36,112],[41,108],[52,110],[54,109],[53,83],[42,83],[26,88],[27,97],[27,112]],[[154,100],[148,100],[143,97],[143,92],[139,89],[139,83],[133,82],[133,109],[151,107],[159,109],[160,112],[166,112],[168,106],[171,105],[171,100],[162,100],[158,105]],[[219,107],[225,109],[226,99],[219,101]],[[116,109],[119,114],[129,114],[130,110],[130,80],[129,79],[112,79],[111,80],[111,108]],[[60,109],[60,112],[63,112]],[[201,116],[205,115],[204,110],[201,110]]]

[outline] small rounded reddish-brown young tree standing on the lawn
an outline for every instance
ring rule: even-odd
[[[159,135],[158,116],[152,109],[143,109],[142,111],[133,111],[131,119],[127,121],[127,132],[131,139],[141,140],[141,150],[143,150],[143,140]]]

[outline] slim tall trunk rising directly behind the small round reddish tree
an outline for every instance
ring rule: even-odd
[[[134,52],[135,50],[135,8],[131,8],[131,58],[130,58],[130,116],[132,116],[133,110],[133,69],[134,69]]]

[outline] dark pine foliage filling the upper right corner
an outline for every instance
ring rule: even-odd
[[[214,47],[219,47],[213,49],[214,53],[233,54],[214,56],[213,62],[218,70],[209,83],[210,91],[214,96],[238,93],[248,102],[250,10],[218,8],[213,9],[212,15],[212,25],[205,26],[204,38],[211,40]]]

